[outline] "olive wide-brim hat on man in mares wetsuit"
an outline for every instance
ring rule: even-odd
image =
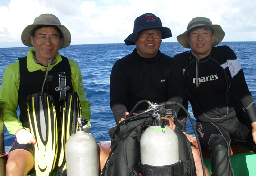
[[[177,36],[177,40],[178,42],[185,48],[190,48],[185,35],[188,34],[188,31],[194,27],[199,27],[199,26],[209,26],[213,29],[213,32],[215,33],[215,37],[214,37],[214,43],[212,44],[212,46],[216,46],[218,45],[224,38],[225,36],[225,32],[223,31],[223,29],[221,28],[220,25],[213,25],[212,22],[210,21],[210,19],[205,18],[205,17],[196,17],[193,18],[187,27],[187,30],[180,34],[179,36]]]

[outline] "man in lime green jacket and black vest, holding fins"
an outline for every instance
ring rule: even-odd
[[[70,45],[69,30],[61,25],[56,16],[42,14],[23,30],[21,40],[25,46],[33,48],[27,52],[26,57],[19,58],[6,67],[0,88],[5,126],[9,133],[16,135],[15,143],[8,154],[6,175],[30,175],[35,171],[31,143],[35,144],[36,141],[28,129],[28,95],[47,92],[53,96],[57,123],[61,126],[61,103],[64,103],[67,93],[78,92],[83,118],[90,125],[91,104],[84,91],[80,69],[73,59],[61,56],[58,52],[60,48]],[[65,86],[66,89],[56,91],[58,86]],[[18,104],[19,118],[16,114]]]

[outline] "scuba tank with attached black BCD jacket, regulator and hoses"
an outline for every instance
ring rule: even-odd
[[[137,107],[145,102],[149,109],[135,113]],[[165,109],[169,105],[180,106],[187,112],[182,104],[175,101],[158,105],[142,100],[134,106],[126,119],[110,129],[111,151],[101,176],[195,175],[192,152],[189,152],[190,144],[186,139],[179,141],[177,137],[183,137],[183,132],[174,132],[169,126],[165,126],[165,120],[160,119],[162,116],[175,117],[174,111]],[[192,121],[188,112],[187,115]],[[192,126],[196,133],[193,123]],[[196,138],[199,141],[197,136]],[[187,150],[183,150],[183,147]],[[183,151],[185,153],[181,153]],[[179,153],[188,154],[188,157],[179,158]]]

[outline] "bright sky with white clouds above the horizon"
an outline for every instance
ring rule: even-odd
[[[40,14],[51,13],[71,33],[71,45],[124,43],[134,20],[160,17],[177,42],[194,17],[225,31],[223,41],[256,41],[256,0],[0,0],[0,48],[23,47],[21,33]]]

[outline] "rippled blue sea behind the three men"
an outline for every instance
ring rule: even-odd
[[[236,53],[245,73],[247,85],[256,100],[256,42],[221,42]],[[60,49],[61,55],[74,59],[82,72],[87,98],[91,102],[91,132],[96,141],[109,141],[108,130],[114,127],[115,120],[110,109],[110,73],[116,60],[131,53],[135,46],[119,44],[71,45]],[[27,55],[29,47],[0,48],[0,85],[4,68],[15,62],[18,57]],[[185,52],[178,42],[163,42],[160,50],[171,57]],[[19,115],[19,109],[17,110]],[[192,116],[192,110],[189,109]],[[193,116],[192,116],[193,118]],[[193,118],[194,121],[194,118]],[[189,123],[189,122],[188,122]],[[192,126],[187,125],[187,132],[193,134]],[[10,146],[15,136],[9,134],[4,126],[5,145]]]

